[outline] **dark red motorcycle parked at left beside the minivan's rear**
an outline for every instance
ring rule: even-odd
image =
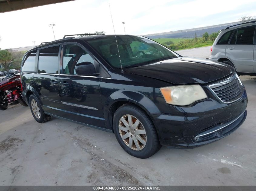
[[[20,76],[14,73],[0,81],[0,110],[6,110],[8,103],[28,106],[22,97]]]

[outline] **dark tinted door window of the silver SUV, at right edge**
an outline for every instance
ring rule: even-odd
[[[253,44],[255,26],[238,29],[236,44]]]

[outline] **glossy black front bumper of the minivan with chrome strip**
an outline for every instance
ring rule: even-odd
[[[217,141],[246,119],[247,94],[230,104],[208,98],[191,107],[170,106],[172,114],[151,113],[161,145],[195,148]]]

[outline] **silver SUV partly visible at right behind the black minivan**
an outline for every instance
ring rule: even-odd
[[[240,74],[256,73],[256,21],[221,30],[211,47],[210,60],[231,65]],[[249,74],[250,75],[250,74]]]

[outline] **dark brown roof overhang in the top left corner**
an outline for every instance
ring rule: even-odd
[[[0,0],[0,13],[74,0]]]

